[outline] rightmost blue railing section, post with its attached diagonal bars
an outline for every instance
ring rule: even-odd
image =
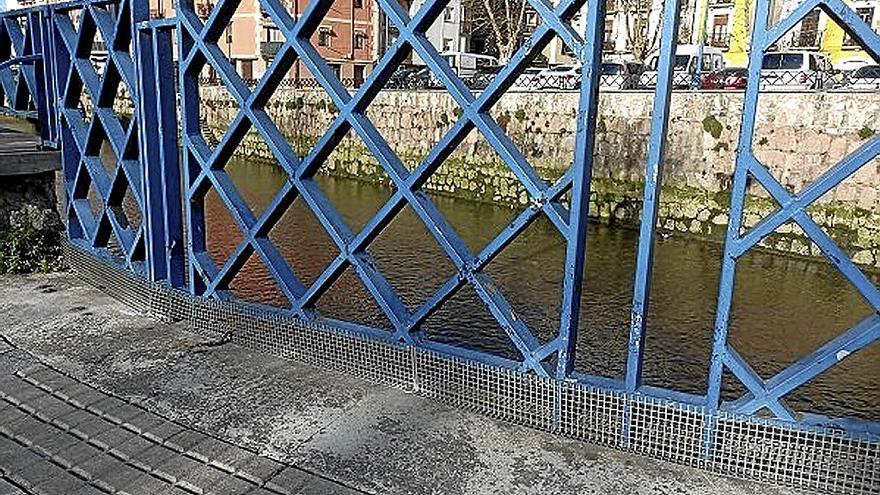
[[[809,215],[808,208],[841,182],[880,156],[880,138],[872,138],[844,157],[801,192],[790,193],[755,156],[753,140],[764,52],[774,46],[790,29],[814,9],[820,8],[838,23],[875,59],[880,59],[880,36],[848,5],[840,0],[807,0],[786,18],[769,25],[769,0],[759,0],[756,7],[752,46],[760,47],[749,55],[749,83],[744,102],[736,169],[731,196],[731,214],[722,259],[712,361],[709,370],[707,402],[712,410],[723,407],[741,414],[756,414],[767,409],[776,418],[796,421],[798,415],[783,398],[798,387],[831,369],[847,357],[874,344],[880,337],[880,290]],[[749,179],[763,187],[779,207],[757,225],[741,234],[746,187]],[[782,225],[792,222],[815,243],[831,266],[858,291],[871,306],[872,316],[840,334],[812,353],[764,380],[747,360],[728,343],[728,326],[734,291],[737,261]],[[720,404],[722,374],[727,369],[747,389],[746,395]]]

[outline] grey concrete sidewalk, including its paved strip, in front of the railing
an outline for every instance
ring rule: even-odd
[[[0,277],[0,495],[781,495]]]

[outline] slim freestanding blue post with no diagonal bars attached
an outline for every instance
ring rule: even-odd
[[[678,43],[680,10],[681,0],[667,1],[663,6],[663,33],[660,61],[657,65],[657,87],[654,90],[654,111],[651,114],[651,137],[645,166],[645,191],[630,316],[629,355],[626,363],[626,391],[630,393],[635,392],[642,385],[642,356],[645,349],[645,328],[651,294],[651,272],[654,266],[654,233],[660,205],[660,190],[663,185],[663,158],[666,154],[669,107],[675,74],[675,64],[672,61]]]

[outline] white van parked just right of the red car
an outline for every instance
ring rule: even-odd
[[[770,52],[761,64],[761,89],[805,91],[834,87],[834,70],[824,53]]]

